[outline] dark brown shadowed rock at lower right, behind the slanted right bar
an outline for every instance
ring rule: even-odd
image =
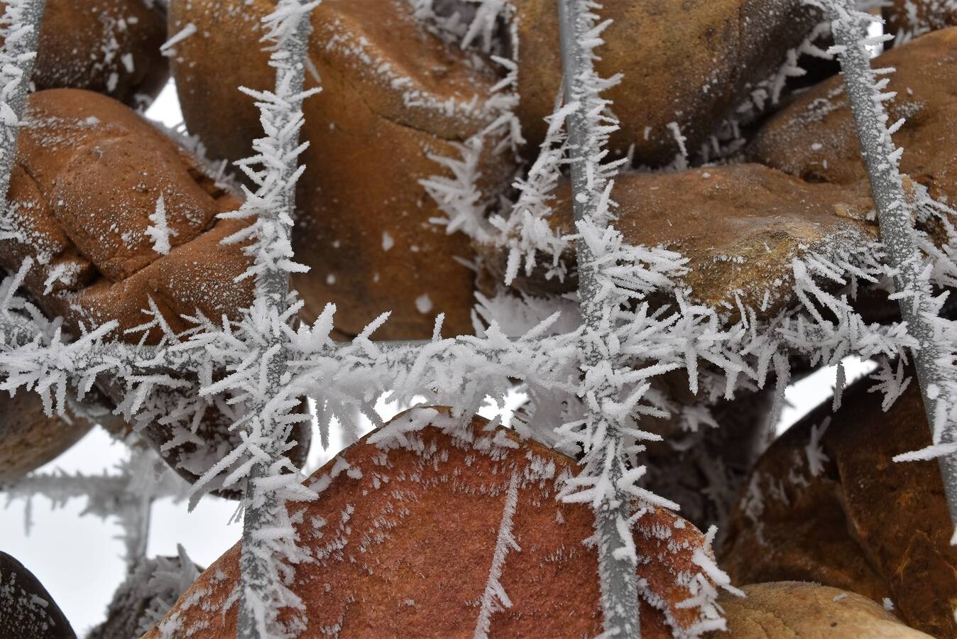
[[[916,381],[886,413],[864,380],[765,453],[731,516],[722,565],[736,584],[817,582],[888,598],[907,624],[957,635],[957,549]]]

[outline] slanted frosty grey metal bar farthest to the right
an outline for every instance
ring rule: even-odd
[[[911,352],[924,396],[927,422],[933,432],[933,447],[927,456],[939,457],[950,518],[957,527],[957,432],[954,429],[954,400],[957,396],[952,371],[953,353],[942,343],[940,332],[935,327],[939,301],[934,299],[924,274],[924,259],[915,238],[914,198],[904,190],[898,164],[902,149],[896,148],[891,140],[892,131],[900,123],[890,129],[887,126],[888,116],[883,102],[893,99],[894,94],[882,93],[888,80],[877,79],[866,49],[868,44],[876,44],[891,36],[869,39],[863,24],[878,18],[856,11],[852,0],[826,0],[825,7],[833,17],[835,52],[854,112],[861,155],[867,165],[881,240],[896,273],[901,318],[907,323],[908,333],[920,344]]]

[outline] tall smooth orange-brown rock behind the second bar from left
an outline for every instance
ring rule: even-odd
[[[269,0],[175,0],[170,32],[199,32],[176,46],[173,75],[190,131],[217,157],[250,154],[261,135],[253,99],[240,84],[272,89],[260,52],[260,18]],[[304,106],[298,191],[298,259],[311,268],[293,278],[305,315],[327,302],[336,325],[355,335],[392,311],[380,339],[427,338],[445,313],[448,335],[472,330],[475,274],[461,260],[472,250],[441,217],[420,180],[446,170],[430,156],[458,157],[456,143],[488,122],[483,104],[496,81],[479,59],[444,44],[412,18],[404,0],[326,0],[312,14],[309,56],[323,93]],[[306,85],[314,85],[311,76]],[[482,161],[493,179],[507,163]]]

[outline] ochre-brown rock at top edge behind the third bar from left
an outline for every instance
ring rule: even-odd
[[[801,0],[684,0],[602,3],[604,33],[596,68],[602,77],[624,74],[607,92],[621,130],[612,147],[634,144],[639,165],[674,160],[678,124],[697,151],[725,118],[767,80],[817,22]],[[532,143],[545,137],[545,122],[562,80],[558,10],[554,0],[517,0],[519,115]],[[767,92],[766,92],[767,95]]]

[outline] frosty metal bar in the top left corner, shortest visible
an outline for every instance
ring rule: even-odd
[[[46,1],[7,0],[6,5],[0,18],[4,38],[0,52],[0,196],[4,209]]]

